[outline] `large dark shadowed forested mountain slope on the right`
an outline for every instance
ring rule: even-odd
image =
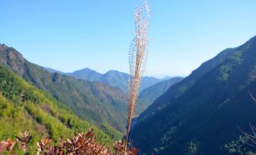
[[[224,50],[174,84],[141,114],[130,135],[154,154],[247,154],[238,127],[256,124],[256,36]],[[247,152],[247,153],[246,153]]]

